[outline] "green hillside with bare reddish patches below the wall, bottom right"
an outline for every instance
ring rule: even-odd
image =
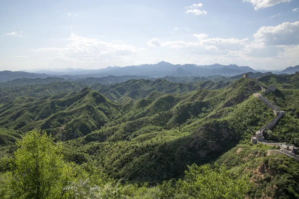
[[[267,156],[273,147],[240,144],[222,155],[216,163],[224,164],[232,173],[248,174],[254,186],[248,198],[297,199],[299,163],[282,155]]]

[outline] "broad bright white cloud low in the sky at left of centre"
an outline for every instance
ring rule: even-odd
[[[47,60],[58,63],[96,64],[119,63],[123,60],[136,59],[145,49],[126,45],[121,42],[104,42],[99,39],[81,37],[71,34],[65,39],[70,43],[63,48],[38,48],[35,52],[47,54]],[[135,57],[133,55],[136,55]]]

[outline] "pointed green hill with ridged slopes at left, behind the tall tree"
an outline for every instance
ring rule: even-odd
[[[108,122],[118,104],[88,88],[70,95],[18,98],[0,107],[0,125],[23,132],[47,130],[59,139],[86,135]]]

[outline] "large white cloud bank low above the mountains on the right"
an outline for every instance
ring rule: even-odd
[[[193,36],[196,41],[153,38],[149,44],[176,52],[180,56],[172,60],[182,64],[241,64],[273,70],[299,63],[299,21],[260,27],[251,39],[209,38],[204,33]]]

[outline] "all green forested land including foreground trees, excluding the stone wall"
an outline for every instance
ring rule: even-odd
[[[265,136],[299,147],[299,75],[260,76],[286,111]],[[299,198],[299,163],[250,143],[255,81],[175,79],[1,83],[0,198]]]

